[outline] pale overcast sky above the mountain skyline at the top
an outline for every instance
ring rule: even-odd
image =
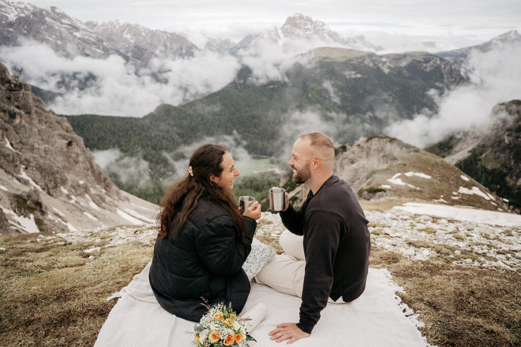
[[[147,28],[204,30],[240,37],[252,29],[280,26],[294,13],[326,22],[339,33],[385,31],[425,37],[487,41],[521,31],[519,0],[33,0],[56,6],[82,21],[115,20]]]

